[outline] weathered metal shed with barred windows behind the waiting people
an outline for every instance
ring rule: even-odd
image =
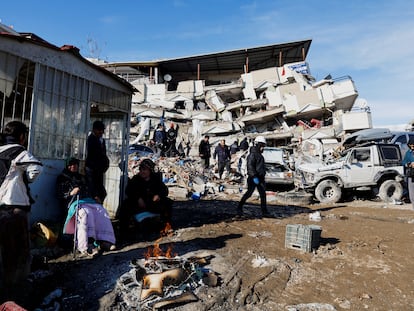
[[[104,202],[115,217],[127,181],[127,148],[133,87],[83,58],[73,46],[56,47],[30,33],[0,28],[0,126],[20,120],[29,126],[28,150],[44,165],[31,184],[31,221],[62,213],[55,182],[65,159],[86,158],[86,139],[95,120],[106,125],[110,168]]]

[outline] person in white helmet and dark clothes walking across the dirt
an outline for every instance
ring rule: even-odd
[[[255,145],[250,148],[250,153],[247,156],[247,191],[238,204],[237,214],[243,214],[243,205],[252,196],[254,189],[257,188],[260,195],[262,215],[266,217],[269,215],[269,212],[266,205],[266,167],[262,155],[264,147],[266,146],[266,139],[263,136],[257,136],[254,143]]]

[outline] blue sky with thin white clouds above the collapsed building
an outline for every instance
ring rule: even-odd
[[[414,1],[20,0],[0,20],[110,62],[312,39],[312,75],[351,76],[375,127],[414,120]]]

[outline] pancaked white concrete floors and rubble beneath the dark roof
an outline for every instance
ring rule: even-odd
[[[167,91],[166,84],[134,87],[138,92],[133,97],[130,143],[148,145],[160,122],[166,129],[171,124],[178,128],[177,147],[185,150],[187,160],[158,162],[166,181],[173,180],[181,188],[180,196],[219,189],[220,180],[206,176],[198,161],[198,144],[206,134],[212,148],[222,138],[231,145],[257,135],[271,146],[286,146],[312,139],[339,142],[348,132],[372,127],[369,109],[353,109],[358,93],[350,77],[316,81],[306,62],[252,71],[228,84],[182,81],[176,91]],[[240,158],[239,152],[232,161],[234,172]],[[211,181],[215,187],[209,185]],[[235,182],[230,191],[237,192],[239,186]]]

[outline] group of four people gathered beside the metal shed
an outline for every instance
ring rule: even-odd
[[[85,174],[80,160],[69,157],[56,180],[56,196],[62,212],[62,234],[73,236],[76,253],[95,257],[116,249],[111,219],[102,205],[107,192],[104,174],[109,168],[105,126],[93,123],[87,138]],[[42,163],[27,149],[28,127],[11,121],[4,127],[0,145],[0,300],[10,297],[31,268],[29,212],[34,203],[29,184],[42,172]],[[172,201],[150,159],[142,161],[140,172],[127,187],[123,215],[158,212],[160,220],[171,221]]]

